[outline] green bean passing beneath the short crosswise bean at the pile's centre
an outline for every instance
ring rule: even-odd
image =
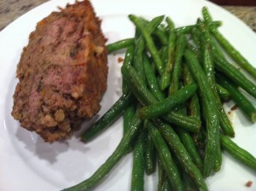
[[[143,106],[148,106],[158,102],[154,95],[147,89],[146,85],[143,83],[143,80],[139,77],[133,67],[123,66],[121,68],[121,72],[123,73],[123,78],[125,78],[125,81],[132,93],[137,97],[137,100],[140,101]],[[192,132],[197,132],[201,127],[200,120],[195,119],[194,117],[184,116],[173,111],[169,112],[163,117],[168,122],[176,124],[177,126]]]

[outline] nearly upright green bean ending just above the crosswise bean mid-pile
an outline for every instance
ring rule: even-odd
[[[174,94],[178,90],[179,77],[182,71],[182,58],[186,46],[186,38],[184,35],[179,35],[176,42],[175,61],[172,71],[171,84],[169,88],[169,96]]]

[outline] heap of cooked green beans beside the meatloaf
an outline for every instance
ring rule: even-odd
[[[218,32],[221,22],[206,7],[202,15],[195,25],[178,28],[164,15],[150,21],[129,15],[135,37],[108,44],[109,54],[126,49],[123,96],[82,136],[89,142],[123,115],[123,138],[90,178],[64,190],[96,188],[130,152],[131,190],[143,190],[144,172],[154,171],[158,190],[208,190],[205,178],[221,169],[223,150],[256,171],[255,157],[232,141],[235,131],[223,107],[232,99],[256,122],[256,109],[243,95],[256,98],[256,85],[241,72],[254,80],[256,69]]]

